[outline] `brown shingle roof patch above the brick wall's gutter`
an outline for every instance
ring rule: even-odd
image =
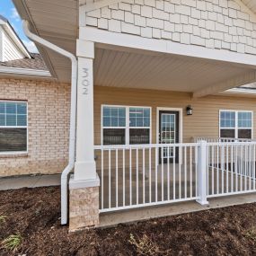
[[[29,68],[29,69],[48,71],[47,66],[45,65],[40,54],[38,53],[31,53],[31,58],[21,58],[21,59],[0,62],[0,66]]]

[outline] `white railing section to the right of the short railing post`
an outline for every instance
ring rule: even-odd
[[[207,144],[207,197],[255,191],[256,143]]]

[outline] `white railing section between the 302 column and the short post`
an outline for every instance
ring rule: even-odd
[[[95,146],[100,211],[198,199],[199,144]]]

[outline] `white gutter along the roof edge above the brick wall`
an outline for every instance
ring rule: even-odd
[[[52,77],[49,71],[47,70],[19,68],[19,67],[5,67],[5,66],[0,67],[0,74]]]

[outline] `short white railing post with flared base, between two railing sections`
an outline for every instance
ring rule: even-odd
[[[202,205],[208,205],[207,202],[207,142],[199,141],[198,154],[198,196],[197,202]]]

